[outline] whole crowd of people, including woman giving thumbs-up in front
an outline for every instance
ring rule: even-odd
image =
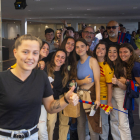
[[[59,140],[67,140],[72,123],[71,140],[108,140],[109,127],[114,140],[132,140],[135,97],[128,89],[132,81],[140,85],[139,32],[131,36],[112,20],[98,32],[65,25],[55,33],[47,28],[43,41],[17,38],[16,64],[0,73],[0,139],[53,140],[59,112]],[[69,104],[80,106],[76,119],[63,112]],[[106,112],[100,104],[112,108]]]

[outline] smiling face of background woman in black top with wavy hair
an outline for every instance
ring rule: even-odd
[[[63,51],[58,51],[54,57],[54,64],[57,68],[61,68],[61,66],[65,63],[66,54]]]

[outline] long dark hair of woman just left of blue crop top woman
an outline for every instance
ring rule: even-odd
[[[70,37],[70,36],[66,37],[63,40],[63,42],[60,46],[60,48],[65,50],[65,51],[66,51],[65,46],[66,46],[66,43],[67,43],[68,39],[73,39],[74,42],[75,42],[75,39],[73,37]],[[68,64],[70,65],[70,71],[69,71],[69,75],[70,75],[69,78],[70,79],[69,80],[75,79],[77,77],[77,69],[76,69],[77,68],[77,62],[76,62],[75,45],[74,45],[73,51],[70,52],[70,55],[68,56]]]

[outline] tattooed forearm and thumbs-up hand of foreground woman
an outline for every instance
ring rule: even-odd
[[[74,86],[65,94],[66,100],[72,104],[77,105],[79,102],[79,98],[77,94],[73,93]],[[53,96],[49,96],[47,98],[43,98],[43,104],[49,113],[57,113],[64,109],[68,104],[65,102],[64,97],[59,100],[54,100]]]

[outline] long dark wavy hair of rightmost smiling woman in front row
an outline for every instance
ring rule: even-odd
[[[127,63],[124,62],[125,66],[126,66],[126,77],[127,77],[127,79],[131,80],[132,79],[131,72],[132,72],[132,68],[134,66],[134,62],[140,63],[140,58],[137,54],[135,54],[134,49],[131,44],[123,43],[123,44],[121,44],[120,48],[127,48],[132,53],[128,62]]]

